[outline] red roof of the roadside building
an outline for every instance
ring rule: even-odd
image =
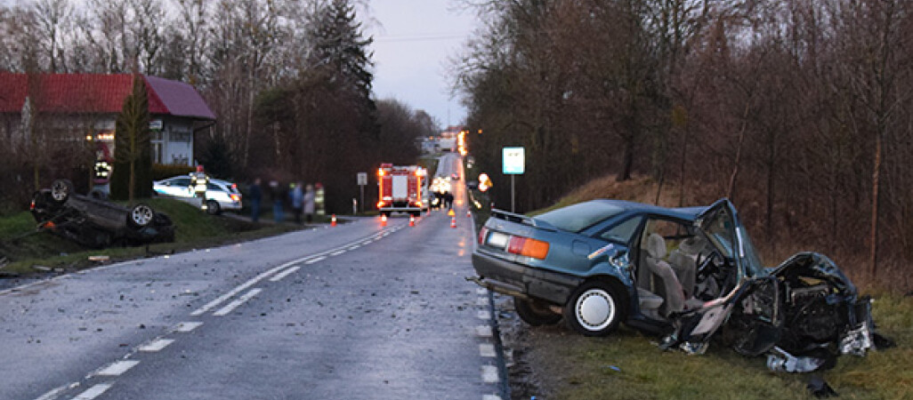
[[[145,77],[149,112],[157,115],[215,119],[194,87],[161,77]],[[130,95],[131,75],[26,74],[0,72],[0,113],[22,111],[26,96],[39,112],[119,113]],[[167,99],[167,100],[165,100]]]

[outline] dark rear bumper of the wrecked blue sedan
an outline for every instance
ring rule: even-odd
[[[495,292],[564,304],[583,279],[560,272],[544,271],[498,258],[484,251],[472,253],[476,282]]]

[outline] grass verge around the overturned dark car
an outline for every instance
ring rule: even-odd
[[[168,214],[175,226],[174,242],[152,244],[149,246],[152,253],[211,247],[297,229],[291,225],[260,225],[228,217],[214,217],[177,200],[152,199],[142,202],[154,210]],[[36,222],[28,211],[0,218],[0,260],[5,258],[8,262],[0,272],[27,274],[34,272],[35,266],[72,271],[94,265],[88,260],[91,255],[108,255],[111,261],[146,255],[145,246],[94,250],[49,232],[35,231]]]

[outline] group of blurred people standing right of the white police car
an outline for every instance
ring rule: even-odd
[[[270,180],[267,188],[261,188],[261,180],[254,179],[250,185],[247,199],[250,200],[250,219],[258,221],[260,219],[260,201],[264,195],[273,205],[273,221],[285,221],[285,210],[287,205],[290,206],[295,223],[301,223],[302,214],[308,223],[314,221],[314,207],[316,193],[313,185],[304,186],[302,182],[291,183],[288,188],[282,185],[278,180]]]

